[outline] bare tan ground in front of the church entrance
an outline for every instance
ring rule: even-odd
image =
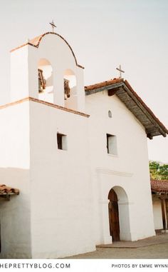
[[[96,251],[80,254],[77,256],[69,257],[71,259],[90,259],[90,258],[112,258],[112,259],[122,259],[122,258],[137,258],[137,259],[164,259],[168,258],[168,233],[163,234],[162,236],[155,236],[153,238],[147,238],[143,241],[138,241],[139,245],[137,248],[132,248],[130,242],[128,247],[125,248],[122,244],[122,247],[117,248],[101,248],[97,247]],[[149,245],[147,243],[149,241]],[[155,243],[154,243],[155,242]],[[123,243],[123,242],[122,242]],[[127,242],[126,242],[127,243]],[[135,242],[132,242],[135,243]],[[144,244],[146,245],[144,246]],[[136,242],[137,245],[137,242]],[[133,244],[134,246],[134,244]]]

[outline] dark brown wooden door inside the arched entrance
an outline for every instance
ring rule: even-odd
[[[108,203],[110,236],[112,236],[113,242],[120,241],[120,225],[119,225],[117,194],[115,193],[113,189],[110,190],[108,199],[110,200],[110,202]]]

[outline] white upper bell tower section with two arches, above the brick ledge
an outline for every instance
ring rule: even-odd
[[[59,34],[47,32],[11,50],[11,101],[28,96],[85,110],[83,67]]]

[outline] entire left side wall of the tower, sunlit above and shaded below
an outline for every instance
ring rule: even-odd
[[[20,190],[0,198],[0,258],[31,258],[28,101],[0,109],[0,124],[1,184]]]

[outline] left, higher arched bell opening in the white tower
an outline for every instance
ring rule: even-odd
[[[38,99],[53,103],[53,68],[50,61],[38,61]]]

